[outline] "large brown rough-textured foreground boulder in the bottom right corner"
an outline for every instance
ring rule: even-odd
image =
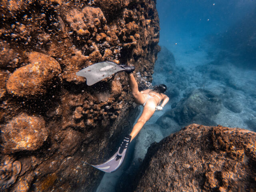
[[[255,191],[256,133],[191,124],[150,146],[134,191]]]

